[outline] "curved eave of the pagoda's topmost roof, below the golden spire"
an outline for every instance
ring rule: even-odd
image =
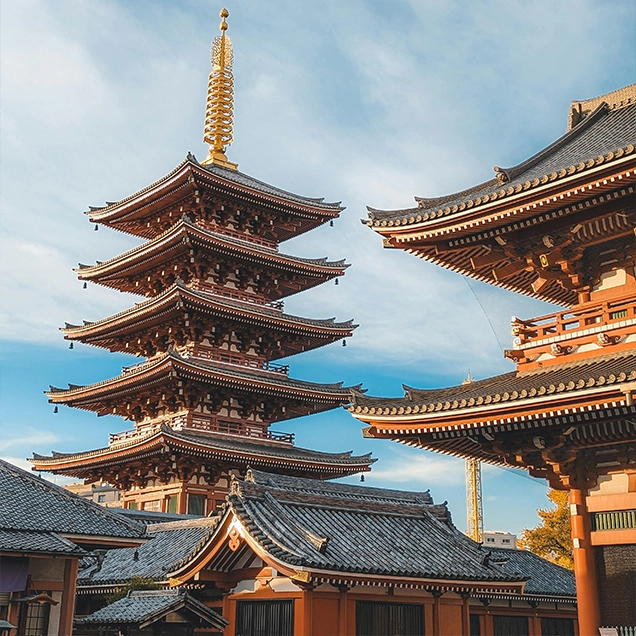
[[[284,210],[299,217],[313,219],[318,223],[337,217],[344,209],[339,203],[323,203],[321,199],[303,199],[296,195],[267,186],[258,190],[259,183],[247,175],[242,175],[254,186],[238,183],[216,172],[200,166],[193,158],[187,158],[173,171],[148,187],[116,203],[103,208],[91,208],[86,214],[92,223],[103,223],[117,228],[118,224],[146,216],[157,202],[162,205],[182,198],[186,192],[193,194],[195,189],[209,185],[229,195],[242,196],[260,205],[269,205],[276,210]],[[265,185],[265,184],[263,184]]]

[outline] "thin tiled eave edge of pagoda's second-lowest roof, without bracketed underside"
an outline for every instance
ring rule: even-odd
[[[290,399],[304,399],[327,404],[327,408],[349,402],[350,388],[341,385],[320,385],[297,380],[279,380],[275,373],[247,373],[231,365],[213,365],[193,362],[177,354],[168,353],[151,360],[128,373],[109,380],[69,389],[45,391],[52,404],[68,404],[84,408],[90,402],[129,395],[132,392],[158,386],[173,377],[206,382],[235,389],[240,392],[257,392]],[[278,374],[279,375],[279,374]],[[89,409],[90,410],[90,409]]]

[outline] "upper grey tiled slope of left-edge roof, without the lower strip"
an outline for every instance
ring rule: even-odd
[[[0,497],[0,530],[88,538],[139,539],[144,536],[142,525],[3,460],[0,460],[0,492],[3,493]],[[25,534],[25,540],[27,536]]]

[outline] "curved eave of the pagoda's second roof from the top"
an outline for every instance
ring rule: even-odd
[[[345,269],[349,267],[344,261],[303,259],[281,254],[276,250],[263,248],[257,243],[250,243],[248,240],[233,239],[223,236],[220,232],[204,230],[181,219],[163,234],[128,252],[96,265],[80,266],[74,271],[77,272],[80,280],[108,284],[108,279],[128,276],[130,272],[144,268],[148,262],[157,261],[159,265],[168,260],[172,252],[186,252],[188,247],[183,243],[184,240],[199,243],[223,255],[232,255],[250,262],[256,261],[267,267],[273,266],[305,276],[329,279],[344,275]]]

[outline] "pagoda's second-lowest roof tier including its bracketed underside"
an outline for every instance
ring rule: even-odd
[[[51,387],[46,395],[54,404],[107,415],[113,413],[113,408],[121,407],[126,399],[133,397],[160,401],[160,389],[175,398],[182,396],[186,392],[180,386],[183,384],[195,392],[204,393],[214,387],[217,392],[259,396],[264,401],[267,398],[281,402],[284,409],[279,420],[346,405],[351,391],[350,387],[343,387],[342,382],[304,382],[273,371],[249,371],[234,364],[188,359],[169,349],[167,353],[148,362],[128,367],[115,378],[86,386],[69,385],[68,389]]]

